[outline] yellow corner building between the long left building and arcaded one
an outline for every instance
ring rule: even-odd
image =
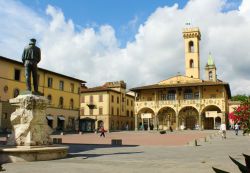
[[[80,131],[134,129],[134,96],[126,94],[123,81],[81,91]]]

